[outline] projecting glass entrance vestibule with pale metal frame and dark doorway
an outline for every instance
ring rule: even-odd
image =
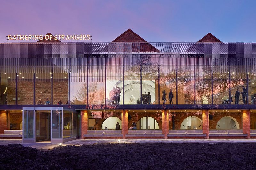
[[[65,107],[23,107],[23,143],[62,143],[80,136],[80,113]]]

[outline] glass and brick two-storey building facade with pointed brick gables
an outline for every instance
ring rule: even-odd
[[[256,136],[256,43],[128,29],[110,43],[0,43],[0,66],[1,138]]]

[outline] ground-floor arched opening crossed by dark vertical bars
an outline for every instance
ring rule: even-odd
[[[148,130],[158,130],[159,129],[159,125],[157,123],[157,121],[153,118],[153,117],[142,117],[138,120],[138,122],[136,123],[137,125],[137,129],[148,129]]]

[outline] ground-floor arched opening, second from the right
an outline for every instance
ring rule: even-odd
[[[183,122],[180,125],[180,129],[202,129],[202,120],[196,116],[189,116],[183,120]]]

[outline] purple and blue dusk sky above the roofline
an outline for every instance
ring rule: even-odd
[[[255,0],[3,0],[0,42],[9,34],[48,32],[111,42],[128,28],[148,42],[196,42],[209,32],[222,42],[255,42],[255,6]]]

